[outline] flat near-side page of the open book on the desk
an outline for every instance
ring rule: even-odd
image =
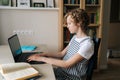
[[[7,73],[4,76],[6,80],[24,80],[33,76],[37,76],[38,74],[39,74],[38,71],[31,67]]]

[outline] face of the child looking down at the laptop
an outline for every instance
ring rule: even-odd
[[[79,26],[75,24],[74,20],[71,18],[71,15],[67,17],[67,28],[70,33],[76,33],[78,31]]]

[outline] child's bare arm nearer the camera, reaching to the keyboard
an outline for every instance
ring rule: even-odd
[[[68,68],[73,66],[74,64],[78,63],[80,60],[82,60],[83,57],[79,54],[76,53],[73,57],[71,57],[68,60],[59,60],[59,59],[54,59],[54,58],[47,58],[47,57],[38,57],[38,56],[34,56],[34,57],[30,57],[29,61],[43,61],[46,62],[48,64],[52,64],[58,67],[64,67],[64,68]]]

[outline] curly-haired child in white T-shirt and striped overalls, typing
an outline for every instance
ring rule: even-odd
[[[75,33],[68,46],[56,54],[35,54],[28,61],[42,61],[58,66],[54,69],[57,80],[85,80],[87,62],[94,52],[94,45],[87,35],[89,17],[85,10],[75,9],[64,17],[70,33]]]

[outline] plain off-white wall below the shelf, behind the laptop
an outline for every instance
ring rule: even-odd
[[[21,44],[46,44],[48,51],[58,50],[58,9],[0,9],[0,44],[14,30],[30,30],[32,35],[19,35]]]

